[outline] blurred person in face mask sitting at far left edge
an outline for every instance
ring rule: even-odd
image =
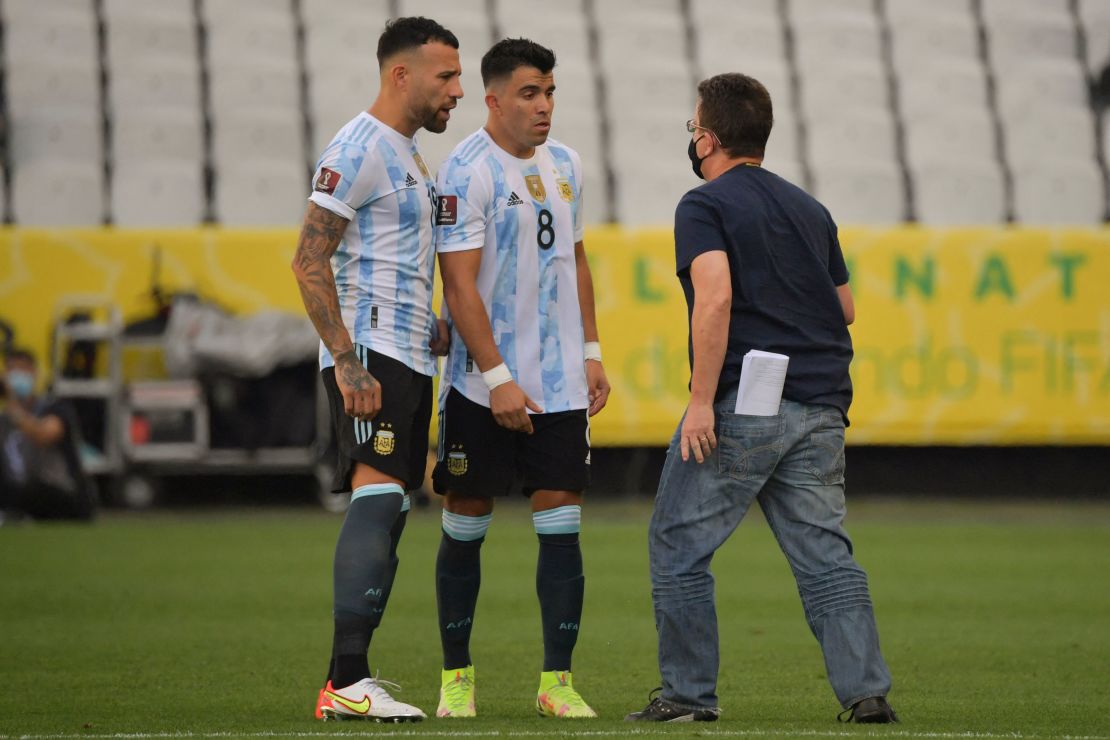
[[[34,395],[34,355],[4,356],[0,402],[0,511],[36,519],[91,519],[92,485],[78,457],[78,426],[64,401]]]

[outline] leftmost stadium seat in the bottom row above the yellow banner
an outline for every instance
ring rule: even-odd
[[[20,226],[89,226],[104,217],[99,162],[27,160],[12,168],[12,220]]]

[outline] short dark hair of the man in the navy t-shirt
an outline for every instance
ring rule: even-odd
[[[770,93],[759,80],[729,72],[697,87],[699,123],[717,134],[730,156],[759,156],[767,149],[775,115]]]

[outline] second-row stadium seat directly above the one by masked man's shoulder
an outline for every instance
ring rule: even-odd
[[[884,109],[851,109],[829,114],[807,129],[809,164],[845,160],[871,161],[876,164],[895,162],[895,126]]]

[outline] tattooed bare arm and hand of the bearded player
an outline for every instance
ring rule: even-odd
[[[293,255],[293,274],[309,318],[335,358],[335,384],[343,394],[344,410],[347,416],[369,419],[382,407],[382,386],[354,353],[351,335],[340,313],[331,265],[346,226],[347,220],[343,216],[309,203],[296,254]]]

